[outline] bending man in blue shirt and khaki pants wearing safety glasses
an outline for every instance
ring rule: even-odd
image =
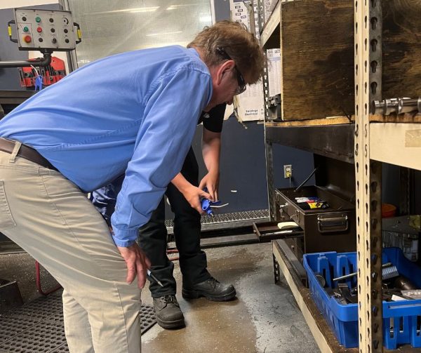
[[[180,172],[197,116],[231,104],[264,66],[255,37],[222,21],[189,48],[91,62],[0,121],[0,232],[63,286],[70,352],[140,352],[150,262],[138,229]],[[122,174],[110,234],[85,192]],[[199,197],[211,198],[197,191],[198,211]]]

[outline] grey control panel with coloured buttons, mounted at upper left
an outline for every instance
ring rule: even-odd
[[[21,51],[71,51],[78,43],[69,11],[15,8],[15,24]]]

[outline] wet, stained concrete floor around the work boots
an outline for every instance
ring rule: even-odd
[[[142,335],[142,353],[320,352],[286,282],[274,284],[271,244],[212,248],[206,253],[210,273],[234,284],[236,300],[187,302],[178,288],[186,327],[168,331],[156,324]],[[0,255],[0,278],[17,279],[25,301],[37,296],[33,264],[27,254]],[[175,278],[181,284],[178,262]],[[43,286],[54,286],[45,272]],[[152,305],[148,289],[142,300]]]

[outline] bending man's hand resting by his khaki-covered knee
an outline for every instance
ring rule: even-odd
[[[126,282],[132,283],[138,274],[138,287],[142,289],[146,282],[146,270],[151,267],[151,262],[137,243],[128,246],[117,246],[127,265]]]

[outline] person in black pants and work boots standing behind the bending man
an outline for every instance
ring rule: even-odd
[[[188,199],[196,197],[196,189],[208,190],[213,199],[218,199],[220,174],[220,144],[225,104],[202,113],[199,124],[203,123],[202,153],[208,173],[199,184],[199,167],[192,147],[189,149],[181,173],[172,180],[166,190],[171,210],[175,214],[174,237],[180,255],[182,272],[182,296],[186,299],[204,296],[210,300],[226,301],[236,295],[232,284],[222,284],[213,278],[208,270],[206,253],[200,248],[201,216],[190,206]],[[122,175],[111,184],[91,193],[91,200],[111,226],[116,196],[123,182]],[[179,188],[179,189],[178,189]],[[185,319],[175,293],[177,285],[173,276],[174,265],[166,255],[167,231],[165,225],[165,204],[162,199],[151,219],[140,228],[138,244],[151,261],[152,273],[161,281],[161,286],[152,279],[149,284],[156,321],[163,328],[185,326]]]

